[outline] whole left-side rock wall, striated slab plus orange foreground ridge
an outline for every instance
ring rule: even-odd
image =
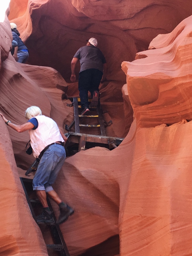
[[[0,3],[0,8],[3,4]],[[6,15],[8,13],[9,10]],[[61,100],[64,93],[56,86],[66,88],[67,84],[52,68],[29,66],[14,60],[10,54],[12,33],[6,15],[4,13],[0,22],[0,112],[13,123],[23,124],[26,108],[38,105],[62,127],[64,120],[72,120],[73,110],[67,108],[67,100]],[[26,170],[34,161],[25,153],[29,134],[10,129],[1,117],[0,130],[0,255],[46,256],[42,233],[32,218],[17,172],[17,166]]]

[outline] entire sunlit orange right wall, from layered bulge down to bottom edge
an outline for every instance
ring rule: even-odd
[[[192,254],[191,28],[192,16],[122,63],[137,127],[120,222],[123,255]]]

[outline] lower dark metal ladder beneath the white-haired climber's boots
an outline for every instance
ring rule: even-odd
[[[33,210],[33,206],[32,206],[32,204],[39,204],[39,205],[41,205],[41,204],[40,204],[39,200],[30,199],[29,195],[28,195],[28,192],[30,192],[32,190],[32,179],[27,179],[27,178],[20,177],[20,181],[21,181],[21,184],[22,184],[24,192],[25,192],[25,196],[26,196],[26,199],[27,199],[27,203],[28,203],[31,215],[33,216],[35,222],[38,225],[41,225],[37,222],[37,219],[36,219],[36,216],[35,216],[35,213],[34,213],[34,210]],[[70,256],[67,245],[65,244],[63,235],[62,235],[61,230],[59,228],[59,225],[56,224],[56,217],[55,217],[55,214],[53,212],[53,209],[51,207],[51,204],[50,204],[50,201],[49,201],[48,197],[47,197],[47,203],[48,203],[49,209],[51,210],[51,212],[53,214],[54,223],[52,225],[50,225],[50,224],[49,225],[46,224],[46,225],[49,227],[52,239],[55,243],[55,244],[46,244],[47,249],[49,248],[51,250],[57,251],[58,255],[60,255],[60,256]]]

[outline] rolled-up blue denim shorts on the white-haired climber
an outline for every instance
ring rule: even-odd
[[[65,158],[65,149],[62,145],[50,145],[39,162],[33,178],[33,190],[53,190],[51,185],[55,182]]]

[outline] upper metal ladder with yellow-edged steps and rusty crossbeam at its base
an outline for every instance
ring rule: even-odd
[[[68,141],[65,145],[65,148],[69,149],[70,151],[77,151],[77,150],[81,151],[81,150],[85,150],[86,148],[101,146],[101,147],[107,147],[110,150],[112,150],[113,148],[116,148],[123,141],[124,138],[106,136],[105,126],[110,126],[113,123],[112,123],[112,120],[110,120],[108,123],[104,121],[103,110],[101,108],[100,102],[98,102],[97,107],[89,108],[91,112],[90,115],[80,115],[79,112],[82,111],[80,98],[74,97],[74,98],[71,98],[71,101],[72,103],[67,105],[69,107],[74,106],[74,120],[69,126],[65,124],[65,130],[69,131],[67,134],[65,134],[65,136],[68,137]],[[91,102],[91,99],[89,99],[89,103],[90,102]],[[97,118],[98,124],[90,124],[89,119],[91,118]],[[87,122],[89,124],[82,124],[83,123],[82,120],[85,121],[85,123]],[[74,125],[75,125],[75,132],[71,132],[71,129]],[[90,128],[90,130],[88,132],[85,132],[85,131],[82,132],[80,130],[80,128],[82,127],[88,127]],[[92,127],[99,127],[100,134],[99,135],[95,134],[93,129],[91,129]]]

